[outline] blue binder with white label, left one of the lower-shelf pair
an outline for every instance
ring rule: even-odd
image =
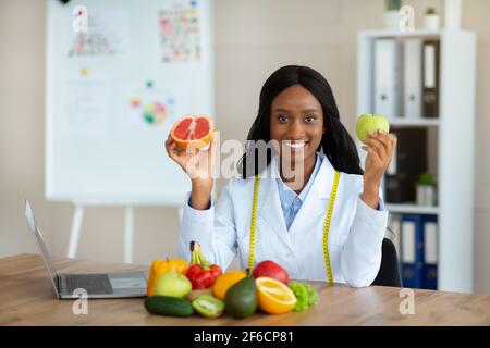
[[[424,287],[424,220],[402,215],[402,282],[404,287]]]

